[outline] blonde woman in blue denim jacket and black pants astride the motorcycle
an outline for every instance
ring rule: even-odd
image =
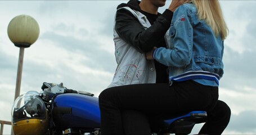
[[[200,134],[221,134],[231,111],[218,100],[223,75],[223,41],[228,29],[217,0],[194,0],[173,14],[167,41],[146,54],[169,67],[169,84],[143,84],[105,89],[99,96],[101,122],[112,129],[120,123],[120,112],[133,109],[154,114],[179,114],[204,110],[208,120]],[[150,86],[150,87],[149,87]],[[106,124],[107,125],[107,124]]]

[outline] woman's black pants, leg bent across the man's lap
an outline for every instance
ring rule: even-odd
[[[135,110],[149,115],[162,113],[175,115],[195,110],[211,112],[217,102],[218,87],[203,86],[192,80],[175,82],[172,86],[133,84],[108,88],[99,96],[101,133],[124,134],[122,118],[124,110]],[[209,127],[215,130],[218,126],[218,123],[205,124],[201,131],[206,133]],[[220,129],[219,134],[223,130]]]

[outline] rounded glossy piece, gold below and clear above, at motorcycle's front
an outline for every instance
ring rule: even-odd
[[[38,92],[30,91],[17,97],[11,115],[15,134],[46,134],[48,130],[46,106]]]

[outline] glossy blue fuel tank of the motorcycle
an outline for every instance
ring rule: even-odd
[[[78,93],[57,95],[53,99],[53,123],[56,127],[100,128],[98,98]]]

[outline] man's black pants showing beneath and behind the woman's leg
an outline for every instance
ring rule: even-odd
[[[218,100],[214,109],[208,111],[207,115],[206,123],[199,134],[221,134],[230,122],[231,110],[225,102]],[[122,112],[124,133],[126,135],[158,133],[163,123],[156,123],[152,118],[155,116],[150,116],[148,113],[124,110]]]

